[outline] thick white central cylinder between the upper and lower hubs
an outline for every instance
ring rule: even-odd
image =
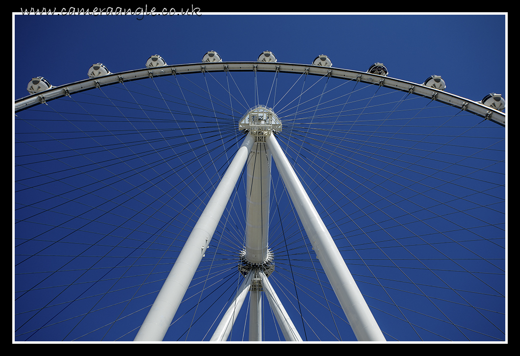
[[[255,142],[248,159],[246,190],[245,259],[263,263],[267,258],[271,153]]]

